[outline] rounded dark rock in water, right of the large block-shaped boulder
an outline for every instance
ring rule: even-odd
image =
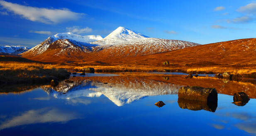
[[[244,106],[249,100],[250,97],[244,92],[236,92],[233,96],[233,103],[238,106]]]

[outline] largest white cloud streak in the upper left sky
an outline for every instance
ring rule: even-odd
[[[3,9],[6,9],[8,12],[13,12],[15,15],[20,15],[25,19],[46,24],[77,20],[83,15],[81,13],[72,12],[68,9],[29,7],[6,2],[4,0],[0,0],[0,5],[2,5]]]

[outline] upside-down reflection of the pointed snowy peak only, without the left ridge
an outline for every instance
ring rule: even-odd
[[[131,83],[128,84],[128,86],[122,84],[105,85],[99,83],[93,83],[93,85],[97,88],[90,88],[90,90],[102,93],[117,106],[129,104],[146,96],[177,94],[181,87],[180,85],[161,82],[158,84]]]

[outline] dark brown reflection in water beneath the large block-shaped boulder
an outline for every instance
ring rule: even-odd
[[[203,109],[210,112],[215,112],[218,106],[217,102],[187,100],[183,98],[178,98],[178,104],[181,109],[189,109],[193,111]]]

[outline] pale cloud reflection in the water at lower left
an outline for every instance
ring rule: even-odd
[[[77,114],[72,112],[63,112],[58,109],[43,108],[37,110],[29,110],[23,114],[1,122],[0,130],[13,126],[21,126],[25,124],[37,124],[46,122],[66,122],[78,119]]]

